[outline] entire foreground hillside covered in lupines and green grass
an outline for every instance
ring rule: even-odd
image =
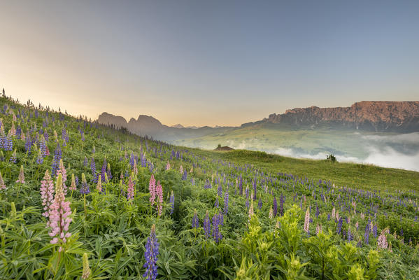
[[[419,277],[416,172],[0,111],[0,279]]]

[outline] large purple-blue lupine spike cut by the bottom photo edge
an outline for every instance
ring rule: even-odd
[[[157,278],[157,255],[159,255],[159,241],[156,237],[156,226],[152,225],[144,252],[145,264],[143,267],[146,267],[146,269],[143,277],[146,280],[155,280]]]

